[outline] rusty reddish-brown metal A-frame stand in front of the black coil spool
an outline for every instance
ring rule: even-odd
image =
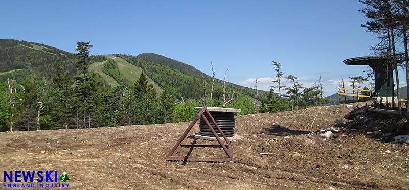
[[[209,123],[208,119],[206,118],[205,114],[206,113],[209,117],[210,120],[213,122],[217,130],[219,130],[221,136],[224,138],[226,145],[221,141],[220,137],[217,135],[216,131],[213,129],[212,125]],[[186,138],[190,130],[192,130],[193,126],[199,120],[203,118],[203,121],[205,121],[206,125],[209,127],[209,129],[212,131],[213,135],[216,137],[219,145],[205,145],[205,144],[181,144],[182,141]],[[227,157],[194,157],[194,156],[176,156],[176,154],[179,152],[181,147],[209,147],[209,148],[222,148],[224,152],[227,154]],[[203,107],[196,115],[192,123],[190,123],[189,127],[186,129],[186,131],[180,136],[179,140],[177,140],[177,143],[175,146],[173,146],[172,150],[169,152],[167,160],[169,161],[209,161],[209,162],[225,162],[225,161],[232,161],[233,160],[233,149],[230,144],[229,139],[226,137],[226,135],[223,133],[223,131],[220,129],[219,125],[217,125],[216,121],[214,120],[213,116],[210,114],[208,111],[207,107]]]

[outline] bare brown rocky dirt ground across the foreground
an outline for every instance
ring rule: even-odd
[[[334,126],[336,118],[347,121],[351,110],[336,105],[238,116],[242,138],[232,141],[234,160],[225,163],[166,160],[189,122],[2,132],[0,169],[65,171],[69,189],[409,189],[409,145],[366,134],[377,126],[329,139],[308,135]],[[195,148],[192,155],[223,152]]]

